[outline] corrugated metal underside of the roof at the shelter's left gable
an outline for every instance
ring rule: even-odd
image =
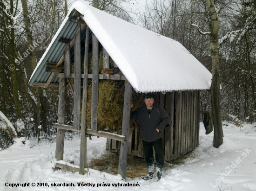
[[[71,12],[70,16],[73,16],[74,10]],[[49,76],[51,75],[51,72],[46,72],[45,68],[46,62],[53,62],[58,63],[58,61],[61,59],[61,56],[63,55],[63,52],[65,51],[67,44],[58,42],[60,38],[66,38],[72,40],[74,37],[75,32],[79,28],[79,24],[76,24],[74,22],[71,22],[67,20],[66,24],[63,26],[61,32],[59,35],[55,38],[54,43],[49,48],[49,51],[47,52],[46,56],[43,57],[43,60],[40,60],[40,65],[38,65],[38,68],[34,71],[33,76],[31,77],[29,81],[29,85],[32,86],[35,82],[40,83],[46,83]],[[81,31],[81,43],[85,43],[85,37],[86,37],[86,27]],[[90,32],[90,41],[89,44],[92,44],[92,33]],[[84,54],[84,47],[81,47],[81,55]],[[70,58],[71,63],[74,62],[74,48],[72,47],[70,49]],[[51,83],[59,83],[59,78],[54,76]]]

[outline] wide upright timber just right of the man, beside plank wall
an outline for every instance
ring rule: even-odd
[[[165,110],[171,119],[169,127],[165,128],[165,161],[173,159],[173,118],[174,118],[174,92],[167,92]]]

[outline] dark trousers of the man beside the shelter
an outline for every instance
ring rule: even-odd
[[[154,153],[153,153],[153,146],[154,146],[156,167],[163,168],[164,159],[163,159],[162,138],[155,140],[154,142],[146,142],[142,140],[142,143],[144,147],[144,154],[147,162],[147,167],[154,166]]]

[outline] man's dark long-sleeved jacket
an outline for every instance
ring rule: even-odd
[[[166,111],[160,106],[157,106],[157,108],[161,114],[162,121],[157,112],[155,104],[153,105],[150,114],[148,113],[146,105],[138,108],[134,112],[131,109],[130,118],[139,119],[141,140],[153,142],[160,139],[163,136],[163,129],[166,127],[166,125],[170,124],[171,120]],[[156,131],[156,129],[159,129],[159,133]]]

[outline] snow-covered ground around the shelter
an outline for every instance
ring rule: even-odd
[[[200,146],[184,160],[184,164],[165,171],[159,182],[155,179],[145,181],[141,177],[124,181],[120,175],[94,169],[89,169],[83,176],[54,172],[55,143],[37,145],[35,141],[26,140],[24,145],[20,138],[13,146],[0,151],[0,191],[256,191],[255,125],[243,124],[241,129],[233,124],[223,126],[223,144],[216,149],[212,145],[213,133],[205,135],[201,124]],[[88,140],[88,158],[97,158],[105,150],[105,138]],[[78,164],[79,152],[79,137],[65,140],[64,159]],[[27,183],[27,187],[11,187],[18,183]],[[61,185],[54,186],[54,183]]]

